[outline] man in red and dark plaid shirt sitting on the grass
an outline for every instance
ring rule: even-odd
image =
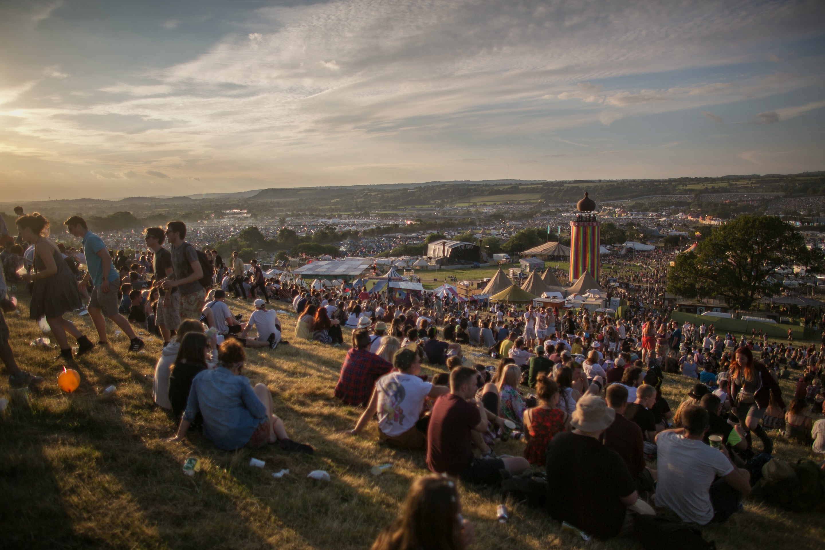
[[[341,367],[341,377],[335,386],[335,397],[347,405],[364,407],[370,401],[375,380],[389,373],[393,365],[370,352],[368,331],[354,331],[352,345]]]

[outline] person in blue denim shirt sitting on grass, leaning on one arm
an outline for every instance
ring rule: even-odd
[[[216,369],[201,371],[192,380],[181,425],[169,441],[183,440],[200,412],[205,438],[219,449],[231,451],[244,445],[257,449],[278,443],[285,451],[314,454],[309,445],[290,440],[284,422],[272,413],[269,388],[262,383],[252,388],[241,374],[246,354],[240,342],[221,344],[218,360]]]

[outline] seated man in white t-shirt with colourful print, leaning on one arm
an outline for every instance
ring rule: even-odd
[[[399,449],[427,448],[427,427],[419,424],[424,399],[450,392],[446,386],[433,386],[418,378],[421,360],[413,350],[402,349],[395,354],[393,364],[399,372],[384,374],[376,380],[370,404],[358,419],[351,435],[358,435],[378,413],[378,435],[381,440]]]

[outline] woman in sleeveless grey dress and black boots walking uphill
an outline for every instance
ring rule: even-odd
[[[22,275],[23,280],[33,283],[29,317],[35,320],[46,318],[63,359],[72,359],[67,332],[78,341],[78,355],[86,353],[94,344],[78,331],[73,322],[63,318],[64,313],[82,308],[82,302],[72,271],[68,269],[57,245],[46,236],[49,220],[35,212],[18,218],[16,225],[22,239],[35,246],[35,270]]]

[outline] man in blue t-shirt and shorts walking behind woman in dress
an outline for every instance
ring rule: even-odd
[[[103,239],[89,231],[86,220],[80,216],[72,216],[64,222],[68,228],[68,233],[74,237],[83,239],[83,254],[86,255],[87,273],[83,280],[78,283],[79,287],[85,287],[89,282],[94,284],[91,299],[89,299],[89,316],[97,328],[97,336],[100,338],[101,346],[105,346],[106,339],[106,318],[120,327],[126,336],[129,336],[130,351],[140,351],[144,349],[144,341],[138,338],[134,329],[118,311],[117,289],[120,285],[120,276],[117,275],[115,266],[112,265],[111,256],[103,243]],[[106,275],[106,276],[104,276]]]

